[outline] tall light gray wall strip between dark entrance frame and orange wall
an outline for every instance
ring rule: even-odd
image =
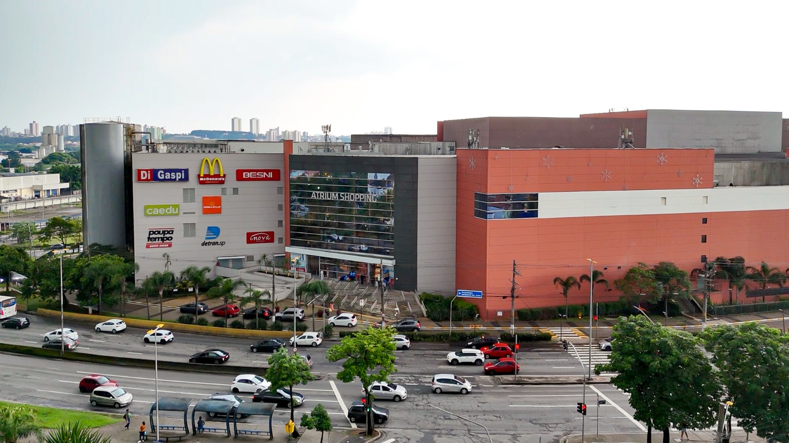
[[[419,158],[417,291],[454,293],[457,158]]]

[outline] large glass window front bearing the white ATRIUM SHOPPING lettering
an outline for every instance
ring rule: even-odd
[[[291,170],[290,244],[393,256],[393,174]]]

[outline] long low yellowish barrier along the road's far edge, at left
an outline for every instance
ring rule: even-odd
[[[36,315],[46,318],[60,318],[60,311],[52,311],[50,309],[39,308],[36,310]],[[75,314],[73,312],[64,312],[63,318],[70,322],[86,322],[86,323],[99,323],[105,322],[110,318],[106,315],[92,315],[92,314]],[[178,322],[159,322],[154,320],[139,320],[137,318],[123,318],[126,325],[130,328],[140,329],[153,329],[157,325],[164,323],[164,328],[175,332],[182,333],[199,333],[204,335],[215,335],[220,337],[240,337],[240,338],[290,338],[294,333],[288,331],[259,331],[256,329],[233,329],[233,328],[215,328],[214,326],[197,326],[185,325]]]

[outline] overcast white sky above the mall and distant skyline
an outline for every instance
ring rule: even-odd
[[[230,118],[436,133],[466,117],[783,111],[789,4],[0,0],[0,127]],[[781,85],[784,86],[781,86]]]

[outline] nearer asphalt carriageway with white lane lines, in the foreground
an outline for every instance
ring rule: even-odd
[[[88,396],[81,394],[77,383],[85,374],[99,373],[119,382],[134,396],[129,409],[137,426],[142,419],[148,421],[148,411],[155,399],[153,370],[131,367],[111,367],[91,363],[39,359],[27,356],[2,356],[0,398],[58,408],[94,410]],[[402,363],[398,359],[398,363]],[[406,366],[401,364],[401,367]],[[227,393],[231,376],[193,374],[176,371],[159,371],[159,395],[204,399],[211,393]],[[430,391],[429,375],[395,374],[392,382],[406,385],[409,398],[400,403],[376,402],[391,411],[390,420],[382,427],[387,437],[397,437],[403,442],[487,441],[481,426],[456,419],[433,407],[462,415],[466,419],[488,426],[493,441],[522,442],[558,441],[563,435],[581,430],[581,415],[575,411],[576,403],[583,399],[581,385],[494,385],[491,378],[475,375],[469,377],[473,390],[466,396],[460,394],[434,394]],[[299,386],[297,392],[305,395],[301,413],[321,403],[331,414],[338,428],[350,429],[353,424],[345,419],[348,406],[360,398],[358,382],[342,383],[329,377]],[[612,385],[594,385],[586,388],[586,403],[596,404],[597,398],[606,400],[600,406],[599,419],[595,407],[589,407],[585,417],[585,431],[592,433],[600,423],[600,431],[637,432],[641,425],[632,419],[632,409],[627,405],[628,396]],[[242,394],[251,400],[249,394]],[[112,408],[101,408],[113,412]],[[120,413],[121,411],[115,411]],[[178,422],[177,414],[161,412],[163,424]],[[289,411],[282,408],[275,413],[275,429],[290,419]],[[245,427],[260,426],[260,419],[244,419]],[[207,426],[219,423],[209,421]]]

